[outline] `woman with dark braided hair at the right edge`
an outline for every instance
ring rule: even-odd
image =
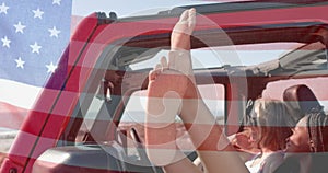
[[[307,113],[288,138],[285,161],[276,173],[324,173],[328,171],[328,116]]]

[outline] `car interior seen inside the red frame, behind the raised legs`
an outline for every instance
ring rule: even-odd
[[[196,8],[200,13],[207,10]],[[179,12],[177,8],[159,15]],[[132,19],[118,22],[127,20]],[[325,109],[328,95],[321,91],[328,80],[327,46],[328,25],[320,22],[204,28],[192,34],[191,58],[195,58],[197,85],[229,136],[242,129],[247,102],[260,96],[283,100],[302,111],[307,109],[308,103]],[[232,49],[233,53],[226,53]],[[167,32],[138,35],[108,45],[97,58],[61,142],[39,160],[49,161],[51,155],[58,155],[61,163],[56,165],[58,170],[83,165],[86,171],[99,172],[108,169],[163,172],[145,154],[143,123],[149,71],[168,50]],[[274,57],[260,58],[269,53],[274,53]],[[250,55],[243,57],[243,54]],[[106,73],[113,78],[105,79]],[[176,123],[184,152],[194,161],[197,153],[178,116]],[[60,154],[63,152],[70,159]],[[42,161],[35,163],[35,171],[43,171]]]

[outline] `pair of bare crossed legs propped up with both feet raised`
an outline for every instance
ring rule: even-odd
[[[173,123],[175,115],[180,113],[208,172],[218,172],[219,170],[222,172],[247,172],[243,161],[223,135],[221,127],[215,124],[213,115],[196,88],[189,53],[190,35],[195,22],[195,9],[186,10],[181,14],[172,33],[172,53],[168,62],[163,59],[161,65],[150,73],[145,127],[148,153],[152,161],[164,165],[167,171],[178,171],[183,163],[186,163],[184,169],[195,170],[195,166],[189,164],[189,160],[186,158],[180,160],[184,155],[175,143],[176,135]],[[164,70],[166,68],[168,70]],[[179,109],[180,105],[181,109]],[[154,126],[150,126],[151,124]],[[156,147],[152,150],[151,146]],[[156,150],[156,148],[162,150]],[[164,159],[159,159],[157,154],[161,153],[164,153]]]

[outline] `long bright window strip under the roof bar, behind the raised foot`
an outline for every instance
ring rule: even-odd
[[[194,69],[218,68],[223,66],[254,66],[273,59],[303,46],[301,43],[266,43],[192,49]],[[131,64],[132,70],[153,68],[159,59],[167,57],[168,50],[160,50],[153,58]]]

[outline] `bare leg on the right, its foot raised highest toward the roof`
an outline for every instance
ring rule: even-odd
[[[180,117],[185,123],[190,138],[197,147],[198,155],[208,172],[248,172],[239,154],[230,145],[221,127],[215,124],[215,118],[201,99],[195,83],[195,77],[190,57],[190,35],[196,24],[195,9],[184,13],[175,25],[171,36],[172,50],[169,57],[174,64],[183,65],[179,71],[188,76],[191,82],[187,82],[188,90],[183,99]],[[179,56],[181,55],[181,56]],[[169,62],[168,62],[169,64]],[[220,150],[218,152],[218,150]],[[231,163],[234,166],[231,166]]]

